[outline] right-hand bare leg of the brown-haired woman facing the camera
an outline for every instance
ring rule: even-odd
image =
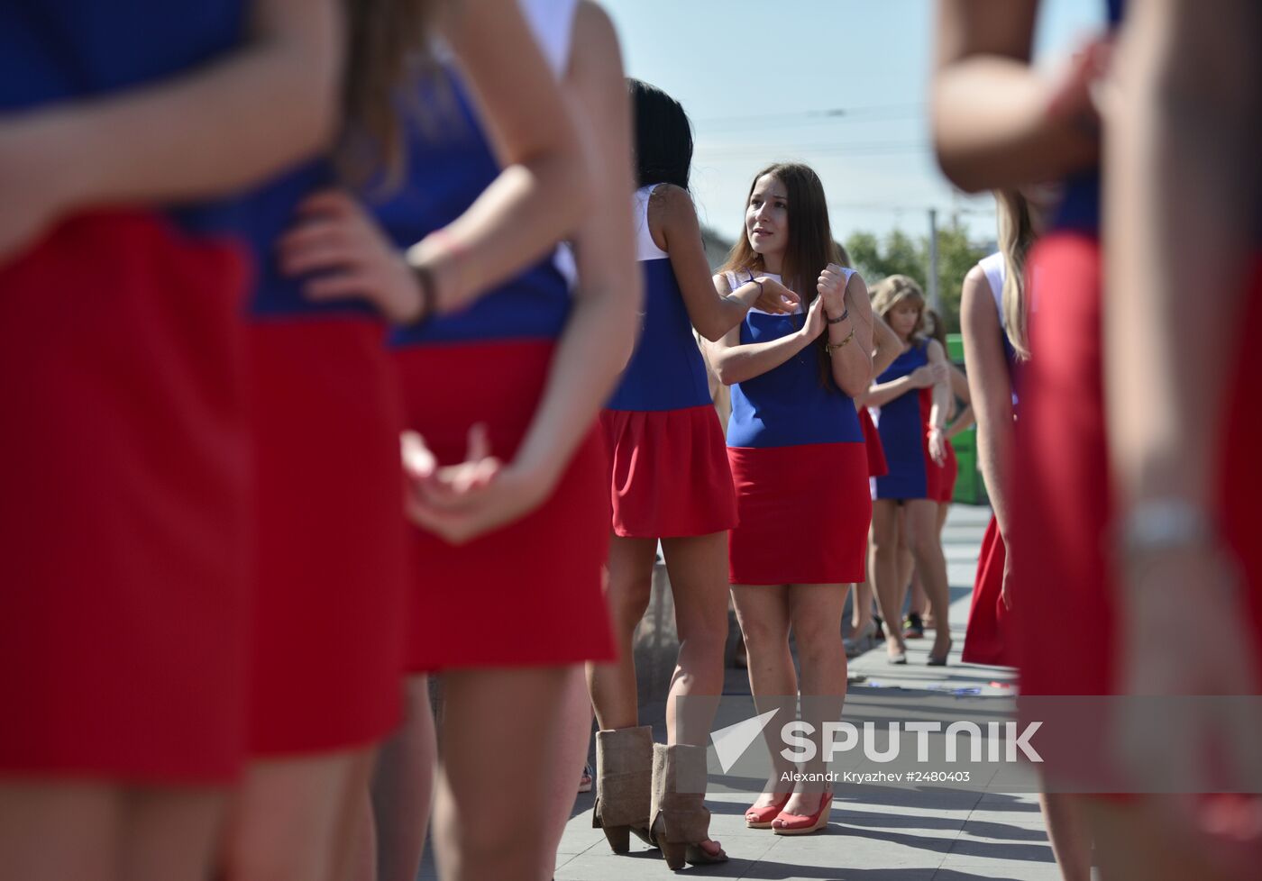
[[[824,722],[842,718],[846,701],[846,650],[840,631],[842,613],[846,607],[848,585],[790,585],[789,609],[794,639],[798,643],[798,660],[801,663],[803,720],[810,722],[817,734]],[[804,763],[803,771],[823,774],[823,742],[815,742],[815,759]],[[804,785],[785,805],[791,814],[813,814],[819,809],[819,794],[829,786]]]

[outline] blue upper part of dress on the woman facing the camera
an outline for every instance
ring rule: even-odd
[[[769,277],[779,276],[767,274]],[[847,276],[848,277],[848,276]],[[742,281],[732,279],[729,281]],[[805,316],[771,315],[756,309],[741,323],[741,345],[770,343],[801,329]],[[727,445],[737,447],[862,444],[854,401],[819,378],[814,344],[780,367],[732,386]]]

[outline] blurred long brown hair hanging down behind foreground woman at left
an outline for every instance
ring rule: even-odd
[[[400,86],[434,67],[429,35],[452,0],[343,0],[347,32],[337,159],[343,176],[363,185],[380,175],[396,185],[406,156]]]

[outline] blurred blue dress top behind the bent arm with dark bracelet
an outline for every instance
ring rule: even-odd
[[[400,248],[459,217],[500,174],[500,164],[461,79],[415,86],[432,118],[406,130],[406,180],[372,210]],[[372,203],[372,188],[363,194]],[[463,311],[435,316],[419,328],[391,331],[391,345],[557,339],[569,318],[569,280],[554,255],[492,289]]]

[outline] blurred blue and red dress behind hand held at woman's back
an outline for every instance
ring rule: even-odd
[[[539,26],[535,16],[528,18]],[[570,24],[572,18],[553,16],[548,26],[563,29],[568,45]],[[557,42],[550,35],[540,38],[545,48]],[[559,67],[569,53],[549,54]],[[445,227],[500,173],[459,78],[448,73],[445,83],[418,88],[435,113],[456,118],[443,121],[439,137],[420,126],[408,132],[406,181],[376,207],[400,247]],[[478,422],[488,429],[495,456],[511,461],[516,455],[570,315],[570,279],[560,253],[463,311],[391,334],[406,425],[420,432],[439,464],[464,460],[469,427]],[[526,517],[461,546],[414,529],[409,669],[612,659],[602,594],[608,515],[608,465],[593,420],[553,494]]]

